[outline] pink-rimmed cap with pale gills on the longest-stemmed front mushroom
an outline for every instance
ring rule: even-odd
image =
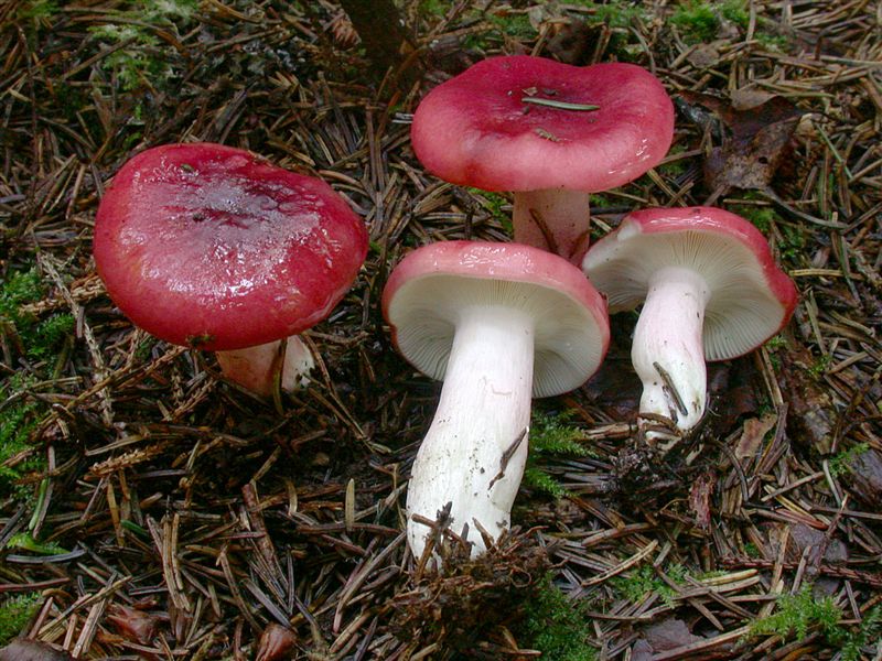
[[[445,241],[396,267],[383,291],[392,342],[417,369],[443,379],[459,311],[510,306],[535,318],[534,397],[581,386],[610,344],[603,297],[561,257],[520,243]]]

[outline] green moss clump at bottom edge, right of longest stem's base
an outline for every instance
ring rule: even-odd
[[[524,606],[525,617],[516,629],[518,642],[542,652],[542,661],[593,661],[590,619],[583,606],[556,587],[549,576]]]

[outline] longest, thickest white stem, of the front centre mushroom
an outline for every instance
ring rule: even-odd
[[[520,310],[473,305],[459,314],[444,386],[408,487],[408,540],[422,555],[448,503],[450,530],[485,550],[477,521],[494,539],[508,528],[524,464],[533,397],[534,321]],[[467,529],[466,529],[467,527]]]

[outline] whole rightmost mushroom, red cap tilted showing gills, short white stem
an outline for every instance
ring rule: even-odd
[[[763,235],[712,207],[634,212],[591,247],[582,266],[611,313],[644,303],[631,358],[643,381],[641,413],[676,424],[676,434],[647,434],[663,449],[704,413],[704,361],[759,347],[796,306],[796,286]]]

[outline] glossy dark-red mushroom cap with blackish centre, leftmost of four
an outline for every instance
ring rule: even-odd
[[[138,326],[238,349],[309,328],[367,253],[361,218],[321,180],[211,143],[129,160],[95,219],[98,274]]]

